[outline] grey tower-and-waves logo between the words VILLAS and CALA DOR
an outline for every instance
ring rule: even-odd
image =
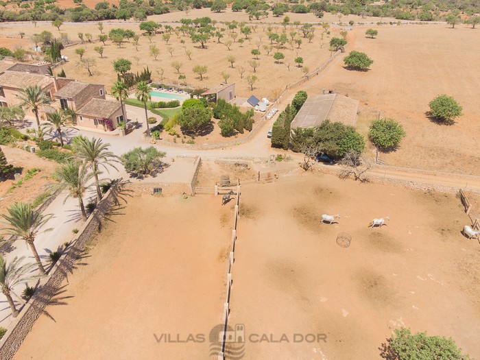
[[[217,360],[221,353],[232,360],[240,360],[245,355],[245,325],[231,326],[219,324],[208,335],[210,340],[210,357]]]

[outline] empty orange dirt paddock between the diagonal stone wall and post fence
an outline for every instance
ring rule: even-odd
[[[232,211],[213,197],[128,199],[15,359],[202,359],[221,319]],[[138,215],[141,214],[141,217]],[[185,226],[188,224],[188,226]],[[165,343],[206,334],[202,343]],[[155,335],[160,339],[157,342]],[[141,355],[139,355],[141,354]]]

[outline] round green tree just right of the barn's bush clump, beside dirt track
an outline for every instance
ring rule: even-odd
[[[398,147],[405,131],[394,119],[379,119],[372,121],[368,137],[376,147],[388,151]]]

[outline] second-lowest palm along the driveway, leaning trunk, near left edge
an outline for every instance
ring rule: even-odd
[[[35,238],[40,233],[40,228],[53,217],[53,215],[43,215],[36,209],[32,208],[32,204],[25,202],[16,202],[7,209],[8,215],[0,215],[3,217],[3,222],[7,224],[8,227],[5,227],[3,231],[7,235],[13,235],[27,242],[32,253],[36,264],[38,265],[38,270],[40,274],[47,274],[43,268],[42,262],[40,261],[40,256],[35,248]],[[51,228],[42,230],[41,232],[47,232],[52,230]]]

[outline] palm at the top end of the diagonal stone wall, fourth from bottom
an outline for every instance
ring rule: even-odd
[[[95,187],[97,187],[97,202],[101,199],[100,184],[98,180],[99,167],[104,167],[106,171],[108,168],[106,165],[118,170],[112,163],[119,163],[118,156],[108,151],[109,143],[104,144],[101,139],[88,139],[84,136],[78,136],[73,143],[75,149],[75,157],[79,160],[85,161],[90,165],[93,176],[95,177]]]

